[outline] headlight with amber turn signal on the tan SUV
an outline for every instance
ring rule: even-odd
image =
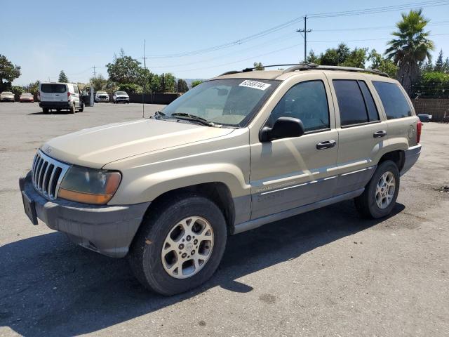
[[[67,171],[58,197],[85,204],[106,204],[119,188],[119,172],[72,166]]]

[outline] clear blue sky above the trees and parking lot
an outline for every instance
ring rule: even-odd
[[[152,72],[177,78],[207,79],[253,62],[295,63],[304,58],[298,28],[307,20],[307,50],[316,53],[347,43],[351,48],[385,44],[401,13],[408,9],[370,13],[369,8],[415,4],[431,19],[436,50],[449,56],[449,1],[1,1],[0,53],[22,67],[15,85],[39,79],[57,81],[64,70],[71,82],[107,78],[108,62],[123,48]],[[423,3],[432,2],[433,5]],[[443,6],[434,6],[444,4]],[[20,10],[19,10],[20,7]],[[26,10],[25,10],[26,8]],[[318,15],[361,10],[357,15]],[[315,17],[314,17],[315,16]],[[317,18],[321,16],[321,18]],[[290,25],[279,25],[291,22]],[[274,32],[254,36],[267,29]],[[241,41],[236,43],[236,41]],[[219,46],[219,48],[216,48]],[[212,50],[210,50],[212,49]]]

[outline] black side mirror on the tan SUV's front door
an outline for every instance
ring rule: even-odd
[[[279,117],[274,122],[274,126],[264,126],[259,133],[259,140],[270,142],[274,139],[300,137],[304,135],[304,125],[301,119],[293,117]]]

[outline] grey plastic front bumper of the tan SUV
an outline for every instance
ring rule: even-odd
[[[31,172],[19,180],[20,190],[34,201],[36,215],[72,242],[113,258],[126,256],[149,202],[123,206],[94,206],[56,199],[48,201],[34,190]]]

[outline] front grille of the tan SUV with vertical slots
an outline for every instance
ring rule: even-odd
[[[31,171],[34,189],[48,199],[56,199],[62,178],[69,167],[39,150],[34,156]]]

